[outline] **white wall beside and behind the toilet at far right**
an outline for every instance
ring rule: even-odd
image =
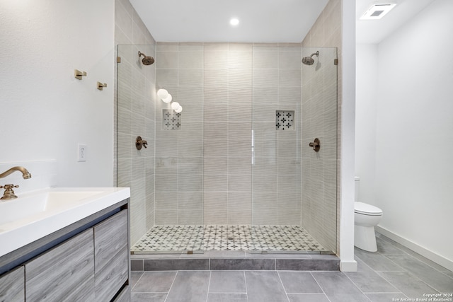
[[[382,230],[450,268],[453,267],[449,243],[453,213],[452,11],[453,1],[434,1],[379,44],[375,182],[373,187],[366,183],[372,182],[372,178],[364,177],[360,184],[362,201],[371,200],[384,211],[379,223]],[[365,61],[365,56],[374,52],[370,48],[357,56],[357,66],[359,60]],[[364,76],[365,66],[362,67],[357,69],[357,79]],[[366,86],[375,81],[372,78],[369,76]],[[357,91],[357,103],[369,102],[372,111],[373,101],[363,97],[366,86],[357,85],[361,89]],[[364,114],[370,118],[357,119],[357,129],[372,129],[373,113]],[[367,148],[365,141],[357,140],[357,153],[364,154]],[[372,158],[372,154],[357,158],[357,173],[372,167],[369,162]],[[374,201],[365,200],[371,194],[375,195]]]

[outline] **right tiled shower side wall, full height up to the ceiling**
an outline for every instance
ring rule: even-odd
[[[342,104],[342,0],[330,0],[318,17],[309,33],[302,41],[302,50],[306,50],[303,56],[310,55],[316,50],[321,52],[319,47],[336,49],[338,57],[337,71],[332,72],[338,76],[336,86],[330,86],[324,82],[322,72],[316,69],[303,67],[302,69],[302,226],[311,233],[324,248],[340,252],[339,226],[340,221],[340,132],[341,132],[341,104]],[[313,48],[310,48],[313,47]],[[320,54],[321,57],[321,54]],[[321,57],[323,62],[331,59]],[[316,62],[316,60],[315,60]],[[315,63],[316,64],[316,63]],[[328,64],[331,64],[328,62]],[[324,65],[322,65],[324,66]],[[333,67],[333,65],[330,65]],[[314,66],[311,66],[314,67]],[[321,94],[326,93],[326,95]],[[325,112],[319,106],[324,107]],[[335,110],[335,112],[334,112]],[[338,115],[337,115],[338,113]],[[329,117],[328,117],[329,116]],[[336,124],[332,124],[337,117]],[[331,120],[328,120],[331,119]],[[310,122],[317,120],[311,124]],[[320,121],[328,121],[321,124]],[[309,125],[312,125],[310,127]],[[319,154],[314,152],[306,153],[309,141],[314,137],[323,135],[321,139],[321,150]],[[327,152],[323,148],[328,139]],[[336,142],[336,144],[335,144]],[[335,144],[336,146],[334,146]],[[333,153],[336,149],[336,153]],[[334,163],[336,158],[336,163]],[[308,161],[307,161],[308,159]],[[316,180],[316,182],[314,182]],[[322,197],[320,195],[322,192]],[[321,202],[322,201],[322,202]]]

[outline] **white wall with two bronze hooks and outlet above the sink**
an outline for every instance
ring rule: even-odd
[[[114,5],[0,1],[0,162],[55,159],[58,186],[113,185]]]

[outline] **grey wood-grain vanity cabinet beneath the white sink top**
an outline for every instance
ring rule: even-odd
[[[59,244],[36,252],[1,275],[0,302],[130,301],[129,217],[125,202],[105,214],[106,219],[101,216],[81,227],[74,226],[73,231],[60,237]]]

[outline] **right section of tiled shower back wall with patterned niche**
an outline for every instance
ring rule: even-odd
[[[301,221],[301,45],[253,45],[253,224]],[[294,111],[277,130],[275,111]]]

